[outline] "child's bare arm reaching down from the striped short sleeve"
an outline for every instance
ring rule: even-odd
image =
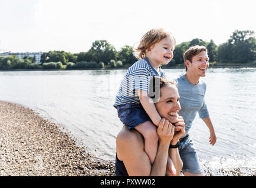
[[[137,89],[137,93],[139,95],[140,103],[142,103],[143,108],[147,112],[147,115],[149,115],[152,122],[158,126],[160,120],[162,119],[159,116],[159,113],[156,110],[155,103],[150,98],[149,94],[143,90]]]

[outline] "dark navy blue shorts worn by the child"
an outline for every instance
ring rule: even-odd
[[[140,123],[151,121],[142,105],[126,103],[125,105],[117,106],[118,117],[121,122],[126,125],[130,130],[134,129]]]

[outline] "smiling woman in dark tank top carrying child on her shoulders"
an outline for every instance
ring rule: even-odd
[[[180,110],[178,87],[175,82],[155,77],[160,83],[160,97],[155,103],[162,118],[157,127],[159,145],[153,164],[144,150],[143,136],[126,126],[116,138],[116,175],[117,176],[179,176],[182,160],[179,157],[178,143],[185,134],[185,123],[178,116]],[[173,123],[173,125],[171,124]],[[169,147],[171,147],[169,149]],[[166,169],[168,155],[172,159],[173,169]]]

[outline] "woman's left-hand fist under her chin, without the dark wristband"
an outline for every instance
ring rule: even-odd
[[[170,143],[174,135],[174,126],[169,123],[169,120],[162,118],[157,128],[159,143]]]

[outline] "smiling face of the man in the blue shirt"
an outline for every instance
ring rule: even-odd
[[[205,76],[209,67],[209,58],[207,52],[202,51],[198,55],[193,56],[192,62],[189,62],[188,71],[195,76]]]

